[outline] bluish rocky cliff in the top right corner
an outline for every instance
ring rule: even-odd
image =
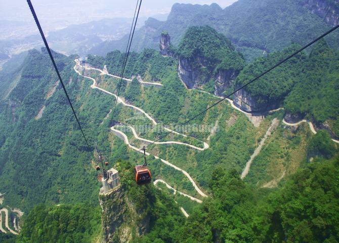
[[[331,26],[339,23],[339,0],[302,0],[301,5]]]

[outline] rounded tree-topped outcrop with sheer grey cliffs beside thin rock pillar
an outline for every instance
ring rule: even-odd
[[[233,86],[245,65],[242,55],[234,49],[229,39],[216,30],[207,26],[190,27],[175,51],[181,80],[192,89],[216,79],[213,93],[222,94]]]

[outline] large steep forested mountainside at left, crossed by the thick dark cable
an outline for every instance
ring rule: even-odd
[[[98,125],[112,99],[77,79],[72,58],[55,56],[91,142],[99,134]],[[50,63],[45,51],[31,51],[18,84],[0,111],[1,191],[7,192],[6,204],[26,212],[38,203],[96,201],[94,189],[98,187],[90,166],[92,151],[87,151],[60,86],[47,98],[57,80]],[[98,105],[89,109],[93,103]],[[37,119],[43,105],[44,113]]]

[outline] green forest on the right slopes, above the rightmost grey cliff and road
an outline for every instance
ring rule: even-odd
[[[281,52],[256,59],[240,72],[236,86],[244,85],[298,49],[299,46],[291,45]],[[306,117],[318,126],[326,122],[338,136],[338,58],[339,53],[322,39],[310,54],[296,55],[245,90],[256,97],[258,103],[278,102],[286,112]]]

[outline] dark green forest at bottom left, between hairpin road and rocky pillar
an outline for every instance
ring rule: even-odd
[[[101,232],[100,211],[88,204],[38,205],[25,219],[16,242],[94,242]]]

